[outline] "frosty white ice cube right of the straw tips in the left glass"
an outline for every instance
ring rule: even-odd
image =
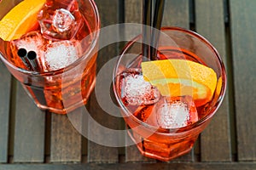
[[[55,71],[71,65],[79,59],[75,41],[52,42],[44,47],[44,71]]]

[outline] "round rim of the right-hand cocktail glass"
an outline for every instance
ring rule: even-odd
[[[207,47],[211,48],[212,49],[212,52],[215,54],[215,57],[216,59],[218,60],[218,63],[221,67],[221,76],[222,76],[222,80],[223,80],[223,83],[222,83],[222,87],[221,87],[221,91],[220,93],[218,94],[218,99],[216,99],[216,103],[215,105],[212,106],[212,109],[209,111],[209,114],[207,114],[207,116],[204,116],[202,117],[199,121],[193,123],[193,124],[190,124],[188,126],[185,126],[185,127],[177,127],[177,128],[160,128],[160,127],[155,127],[155,126],[152,126],[152,125],[149,125],[148,123],[146,122],[143,122],[141,120],[139,120],[136,116],[134,116],[131,111],[128,111],[128,109],[126,108],[126,106],[123,104],[120,96],[119,96],[119,93],[117,92],[116,88],[117,88],[117,84],[115,82],[115,77],[117,76],[117,71],[118,71],[118,67],[117,65],[119,65],[119,62],[122,58],[122,56],[125,54],[125,52],[131,48],[131,45],[134,43],[134,42],[137,42],[137,40],[139,38],[142,38],[142,35],[138,35],[137,37],[134,37],[133,39],[131,39],[130,42],[126,43],[125,44],[125,47],[122,49],[117,61],[116,61],[116,65],[113,69],[113,92],[114,92],[114,95],[115,95],[115,98],[117,99],[118,101],[118,104],[121,108],[121,110],[125,113],[125,116],[127,117],[131,117],[132,120],[134,120],[135,122],[137,122],[138,124],[141,124],[143,125],[143,127],[146,127],[148,129],[151,129],[154,131],[154,133],[163,133],[163,134],[167,134],[167,135],[172,135],[174,133],[187,133],[189,132],[190,130],[192,129],[195,129],[197,127],[200,127],[204,122],[207,122],[207,120],[209,120],[210,118],[212,118],[213,115],[215,115],[216,111],[218,111],[218,108],[219,106],[222,104],[222,101],[224,99],[224,94],[225,94],[225,91],[226,91],[226,80],[227,80],[227,77],[226,77],[226,71],[225,71],[225,67],[224,67],[224,62],[223,60],[221,59],[220,55],[218,54],[218,51],[216,48],[213,47],[212,43],[209,42],[205,37],[202,37],[200,34],[198,34],[197,32],[195,31],[191,31],[191,30],[187,30],[187,29],[184,29],[184,28],[181,28],[181,27],[177,27],[177,26],[165,26],[165,27],[162,27],[161,28],[161,31],[180,31],[180,32],[185,32],[185,33],[188,33],[189,35],[193,36],[193,37],[196,37],[197,39],[201,40],[202,42],[206,43],[207,44]],[[215,92],[214,94],[216,93],[216,89],[215,89]]]

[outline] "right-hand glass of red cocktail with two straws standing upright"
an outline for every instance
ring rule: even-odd
[[[142,56],[142,36],[126,44],[113,71],[113,91],[127,132],[144,156],[169,161],[188,153],[211,121],[224,98],[226,73],[217,50],[201,35],[177,27],[161,31],[157,59],[186,59],[207,65],[218,80],[207,103],[191,103],[189,96],[168,101],[143,79],[141,63],[147,58]],[[189,110],[189,116],[184,122],[181,114],[185,110]]]

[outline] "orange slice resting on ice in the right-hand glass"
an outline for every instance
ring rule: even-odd
[[[212,99],[217,75],[212,68],[185,59],[162,59],[142,63],[145,81],[160,90],[163,96],[192,96],[195,105]]]

